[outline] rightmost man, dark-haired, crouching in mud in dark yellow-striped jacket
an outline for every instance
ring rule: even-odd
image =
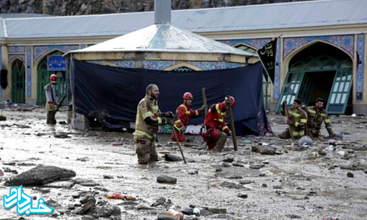
[[[320,137],[320,129],[322,122],[325,123],[325,127],[330,137],[335,137],[333,129],[331,127],[331,121],[326,111],[323,109],[324,100],[322,98],[316,99],[315,106],[309,106],[304,108],[307,113],[307,127],[306,134],[312,138]]]

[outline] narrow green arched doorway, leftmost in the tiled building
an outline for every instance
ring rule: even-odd
[[[11,101],[25,103],[25,66],[20,59],[11,65]]]

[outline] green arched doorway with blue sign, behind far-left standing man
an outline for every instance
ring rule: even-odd
[[[49,55],[62,55],[64,52],[54,51]],[[61,99],[68,94],[68,77],[66,71],[49,71],[47,70],[47,56],[38,64],[37,66],[37,105],[44,105],[46,103],[45,96],[45,86],[49,83],[49,76],[51,74],[57,75],[57,84],[56,84],[56,96],[57,102],[60,102]],[[65,99],[63,105],[67,100]]]

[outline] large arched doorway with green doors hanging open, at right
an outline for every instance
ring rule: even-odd
[[[276,110],[280,111],[284,100],[291,106],[300,98],[302,104],[312,106],[321,97],[328,113],[343,114],[351,110],[352,75],[353,62],[344,51],[325,43],[313,44],[290,61]]]

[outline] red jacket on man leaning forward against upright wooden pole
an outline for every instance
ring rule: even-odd
[[[218,103],[210,106],[210,109],[208,110],[204,120],[205,126],[208,126],[212,129],[222,130],[226,133],[229,132],[229,128],[226,125],[226,110],[224,109],[224,105],[224,103]]]

